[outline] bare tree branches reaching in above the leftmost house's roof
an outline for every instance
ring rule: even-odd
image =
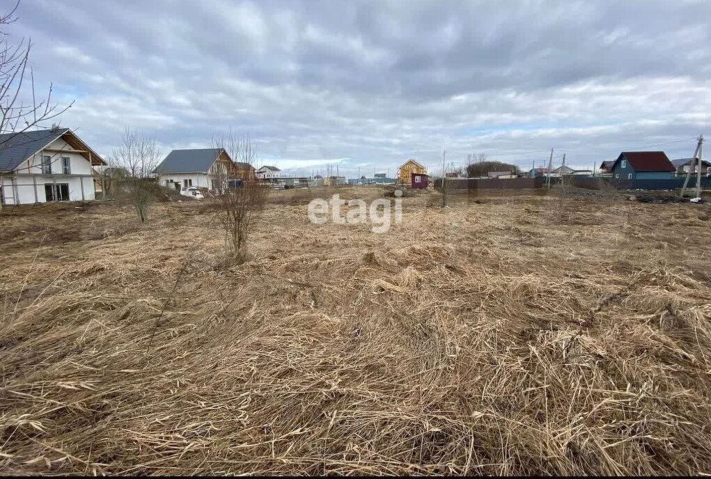
[[[21,39],[11,43],[4,28],[17,20],[20,1],[6,14],[0,12],[0,149],[10,144],[23,131],[48,127],[48,122],[65,112],[72,103],[60,107],[52,101],[52,85],[46,96],[38,99],[32,69],[29,66],[32,43]],[[4,185],[0,171],[0,196]],[[2,202],[0,201],[0,210]]]

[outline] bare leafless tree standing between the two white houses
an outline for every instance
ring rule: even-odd
[[[149,206],[156,197],[157,185],[152,177],[160,160],[161,151],[156,139],[128,127],[121,145],[112,154],[112,165],[121,166],[128,172],[122,193],[129,196],[141,223],[148,221]]]

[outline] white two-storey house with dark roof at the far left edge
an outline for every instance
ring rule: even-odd
[[[0,134],[0,201],[93,200],[92,166],[100,165],[106,162],[68,128]]]

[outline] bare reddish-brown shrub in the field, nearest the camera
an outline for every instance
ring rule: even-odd
[[[247,239],[250,227],[264,208],[269,188],[252,173],[257,151],[249,135],[240,136],[235,131],[213,136],[213,148],[223,149],[235,163],[227,168],[218,161],[213,165],[213,175],[219,185],[215,199],[215,217],[225,231],[225,264],[241,264],[247,259]]]

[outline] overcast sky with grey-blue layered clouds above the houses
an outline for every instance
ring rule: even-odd
[[[351,177],[434,170],[443,149],[524,168],[551,148],[588,168],[681,158],[711,135],[707,0],[22,0],[18,16],[36,82],[75,102],[61,123],[106,156],[126,126],[167,154],[231,125],[262,163]]]

